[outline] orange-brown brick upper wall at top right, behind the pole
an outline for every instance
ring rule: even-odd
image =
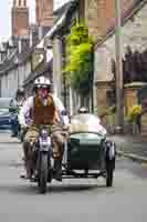
[[[96,41],[98,38],[104,38],[115,26],[115,0],[85,0],[85,2],[86,23],[90,34]],[[122,0],[122,17],[126,17],[137,2],[138,0]]]

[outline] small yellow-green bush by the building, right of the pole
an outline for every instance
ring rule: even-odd
[[[133,105],[128,111],[127,120],[130,123],[135,123],[138,115],[141,114],[141,107],[140,105]]]

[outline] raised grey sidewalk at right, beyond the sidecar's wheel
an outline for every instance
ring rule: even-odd
[[[117,154],[147,163],[147,140],[139,135],[108,135],[116,143]]]

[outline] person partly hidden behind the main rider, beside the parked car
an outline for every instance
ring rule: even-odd
[[[18,135],[18,131],[19,131],[18,114],[24,101],[25,101],[25,92],[24,92],[24,89],[21,87],[17,90],[15,98],[12,99],[10,102],[10,112],[12,113],[12,118],[11,118],[12,135],[11,137]]]

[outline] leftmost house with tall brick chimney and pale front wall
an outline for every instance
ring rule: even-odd
[[[0,95],[14,97],[31,71],[29,8],[27,0],[13,0],[12,37],[0,47]]]

